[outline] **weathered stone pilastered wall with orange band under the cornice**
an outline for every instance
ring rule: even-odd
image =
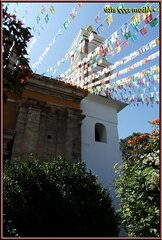
[[[84,97],[81,89],[35,75],[17,100],[12,159],[33,153],[42,160],[58,155],[80,160]]]

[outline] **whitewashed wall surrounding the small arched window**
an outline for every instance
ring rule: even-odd
[[[114,198],[113,166],[121,163],[119,138],[117,129],[117,112],[125,105],[120,102],[89,94],[81,102],[81,109],[86,116],[81,129],[81,156],[88,169],[98,176],[102,185],[109,189]],[[107,143],[95,141],[95,124],[102,123],[106,127]],[[114,200],[114,206],[116,200]]]

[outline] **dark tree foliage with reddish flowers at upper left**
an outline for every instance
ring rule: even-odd
[[[26,57],[27,42],[32,37],[30,28],[23,27],[16,16],[3,8],[3,80],[4,89],[21,93],[32,71]],[[4,92],[5,94],[5,92]],[[6,96],[6,95],[5,95]]]

